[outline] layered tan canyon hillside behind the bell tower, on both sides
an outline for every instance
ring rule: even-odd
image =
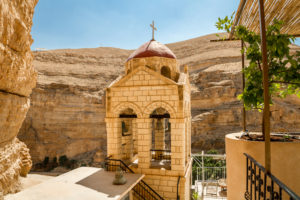
[[[240,131],[242,104],[240,42],[210,42],[215,35],[167,45],[180,65],[189,65],[192,84],[192,151],[224,150],[224,135]],[[293,49],[297,47],[293,46]],[[82,158],[106,150],[104,89],[124,72],[131,51],[116,48],[35,52],[37,87],[19,138],[35,162],[46,156]],[[275,100],[272,131],[300,131],[297,98]],[[248,112],[250,131],[261,113]],[[85,154],[84,154],[85,155]]]

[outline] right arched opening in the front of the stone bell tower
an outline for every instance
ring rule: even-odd
[[[151,114],[151,167],[171,169],[171,124],[170,114],[164,108],[157,108]]]

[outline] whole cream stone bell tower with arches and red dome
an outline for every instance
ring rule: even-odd
[[[145,174],[165,199],[190,199],[190,91],[187,66],[181,73],[174,53],[154,38],[106,89],[108,156]]]

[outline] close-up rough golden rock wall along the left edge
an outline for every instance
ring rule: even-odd
[[[16,192],[31,168],[29,150],[16,136],[30,107],[37,73],[30,35],[37,0],[0,0],[0,192]],[[0,194],[1,195],[1,194]]]

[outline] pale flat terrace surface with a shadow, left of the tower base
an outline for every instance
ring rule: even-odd
[[[114,172],[80,167],[57,177],[30,176],[24,190],[9,194],[5,200],[120,200],[143,179],[142,174],[124,174],[124,185],[113,185]]]

